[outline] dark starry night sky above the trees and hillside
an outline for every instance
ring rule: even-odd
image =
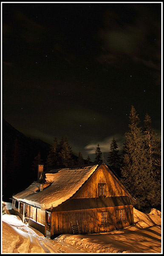
[[[3,118],[93,160],[133,105],[161,133],[161,3],[3,3]]]

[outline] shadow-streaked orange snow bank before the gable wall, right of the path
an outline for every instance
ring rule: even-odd
[[[134,209],[135,224],[122,230],[90,235],[60,235],[56,241],[72,244],[88,253],[161,253],[161,212]]]

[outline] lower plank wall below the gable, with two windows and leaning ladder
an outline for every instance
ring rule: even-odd
[[[125,221],[118,222],[116,211],[119,209],[125,209]],[[107,224],[101,224],[102,212],[107,212]],[[51,227],[54,226],[54,234],[72,233],[71,221],[72,224],[76,224],[76,220],[78,221],[80,233],[82,234],[118,230],[133,224],[133,206],[52,212]]]

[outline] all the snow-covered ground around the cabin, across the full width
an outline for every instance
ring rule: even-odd
[[[134,209],[135,224],[107,233],[60,235],[54,240],[18,216],[2,215],[2,253],[161,253],[161,212]]]

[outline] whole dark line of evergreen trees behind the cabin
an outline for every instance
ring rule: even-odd
[[[143,212],[149,212],[151,208],[160,210],[161,148],[156,138],[157,134],[151,127],[151,118],[148,114],[145,115],[144,127],[139,127],[140,120],[133,106],[129,118],[129,131],[125,134],[123,151],[119,154],[117,142],[113,137],[109,145],[107,165],[130,194],[136,198],[137,209]],[[35,152],[34,148],[31,150],[29,143],[21,145],[20,141],[19,136],[15,136],[12,145],[3,143],[3,191],[5,195],[8,194],[8,185],[11,187],[9,193],[11,196],[18,189],[21,190],[37,180],[39,164],[44,165],[44,171],[50,171],[97,164],[103,159],[99,144],[95,148],[93,162],[89,155],[87,159],[84,159],[81,152],[76,156],[66,135],[59,142],[55,137],[52,145],[45,143],[46,147],[40,141],[40,146],[35,147]]]

